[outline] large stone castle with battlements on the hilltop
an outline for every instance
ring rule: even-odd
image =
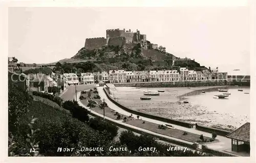
[[[144,49],[158,48],[157,44],[148,43],[146,35],[140,34],[140,31],[131,32],[131,30],[125,31],[125,29],[106,30],[106,38],[87,38],[84,48],[93,50],[106,45],[133,48],[139,43]]]

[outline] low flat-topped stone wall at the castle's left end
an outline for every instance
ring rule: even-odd
[[[101,46],[105,45],[107,45],[107,39],[105,39],[104,37],[98,37],[86,39],[84,47],[88,50],[92,50],[95,48],[100,48]]]

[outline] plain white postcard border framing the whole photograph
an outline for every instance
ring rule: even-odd
[[[8,157],[8,82],[7,82],[7,56],[8,56],[8,7],[195,7],[195,6],[246,6],[250,5],[251,28],[250,28],[250,72],[251,72],[251,103],[250,103],[250,124],[251,124],[251,156],[250,157]],[[243,0],[86,0],[86,1],[1,1],[1,151],[0,162],[254,162],[255,161],[255,1]],[[255,74],[255,75],[254,75]],[[178,159],[177,159],[178,158]]]

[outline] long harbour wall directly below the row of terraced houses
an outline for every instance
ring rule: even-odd
[[[226,80],[200,80],[200,81],[178,81],[178,82],[140,82],[140,83],[113,83],[115,87],[205,87],[226,86]]]

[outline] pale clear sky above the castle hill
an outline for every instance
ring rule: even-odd
[[[249,7],[9,8],[9,57],[46,64],[73,57],[86,38],[125,29],[176,57],[250,74]]]

